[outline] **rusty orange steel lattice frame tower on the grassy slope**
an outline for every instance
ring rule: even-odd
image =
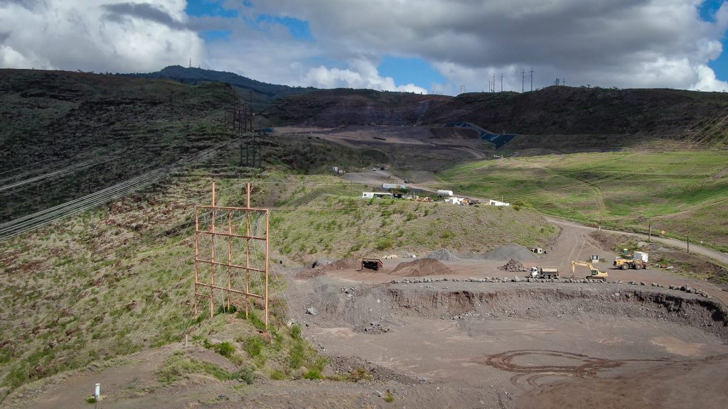
[[[208,298],[210,318],[216,303],[227,311],[244,303],[247,318],[254,298],[263,302],[267,330],[270,210],[250,207],[250,183],[246,190],[246,207],[216,206],[213,183],[213,204],[194,207],[194,315]]]

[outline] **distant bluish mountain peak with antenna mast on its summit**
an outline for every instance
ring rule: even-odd
[[[185,68],[181,65],[170,65],[153,73],[119,74],[137,78],[173,79],[183,84],[201,84],[204,82],[226,82],[240,92],[248,100],[249,92],[253,92],[253,107],[260,111],[267,108],[273,100],[290,95],[305,94],[315,88],[289,87],[288,85],[267,84],[245,76],[226,71],[205,70],[202,68]]]

